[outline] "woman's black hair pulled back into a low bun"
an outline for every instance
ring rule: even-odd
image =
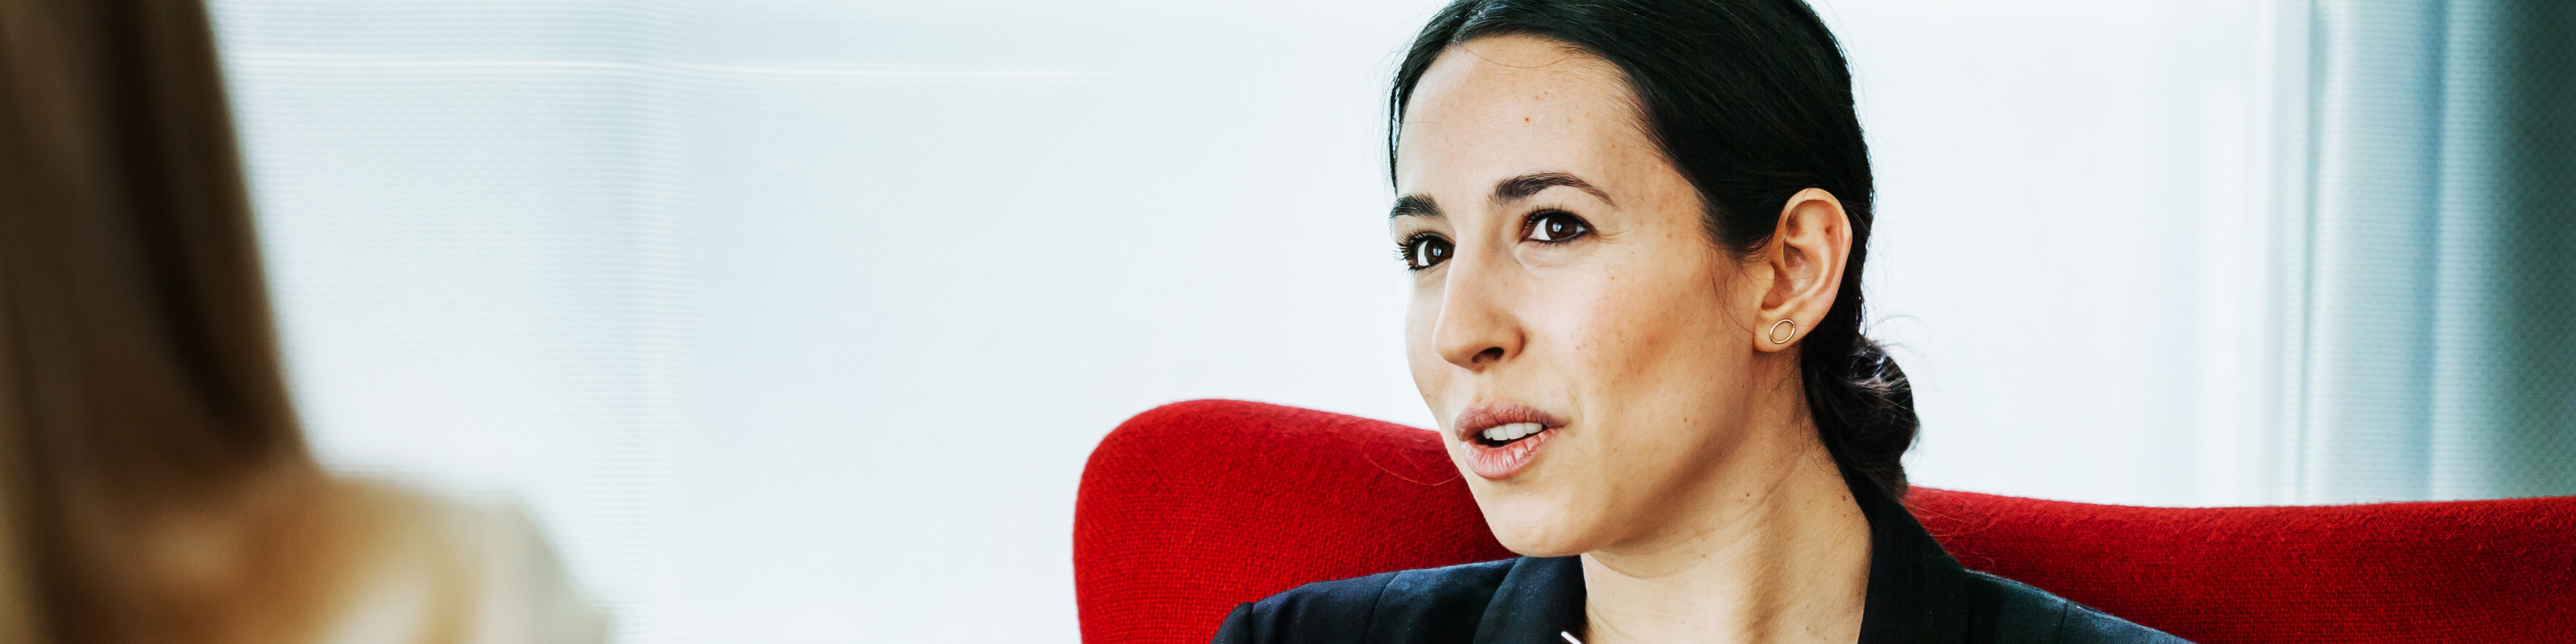
[[[1824,188],[1842,201],[1852,255],[1834,309],[1798,348],[1801,389],[1842,477],[1904,500],[1914,389],[1860,335],[1870,247],[1870,149],[1852,111],[1852,72],[1798,0],[1453,0],[1414,36],[1388,98],[1388,165],[1404,106],[1453,44],[1540,36],[1618,64],[1646,134],[1700,191],[1703,222],[1739,258],[1770,242],[1788,198]],[[1806,322],[1806,319],[1801,319]]]

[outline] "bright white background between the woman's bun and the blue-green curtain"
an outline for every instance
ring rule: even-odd
[[[2282,502],[2269,3],[1821,3],[1919,484]]]

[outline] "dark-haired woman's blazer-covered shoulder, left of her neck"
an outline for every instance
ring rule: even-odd
[[[1520,559],[1311,582],[1234,605],[1218,644],[1466,641]]]

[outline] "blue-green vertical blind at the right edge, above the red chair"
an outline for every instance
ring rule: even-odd
[[[2576,10],[2293,10],[2290,497],[2576,495]]]

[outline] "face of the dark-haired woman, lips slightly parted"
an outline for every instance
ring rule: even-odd
[[[1530,36],[1450,46],[1414,88],[1396,188],[1406,358],[1494,536],[1595,551],[1705,500],[1777,361],[1749,340],[1762,289],[1618,67]]]

